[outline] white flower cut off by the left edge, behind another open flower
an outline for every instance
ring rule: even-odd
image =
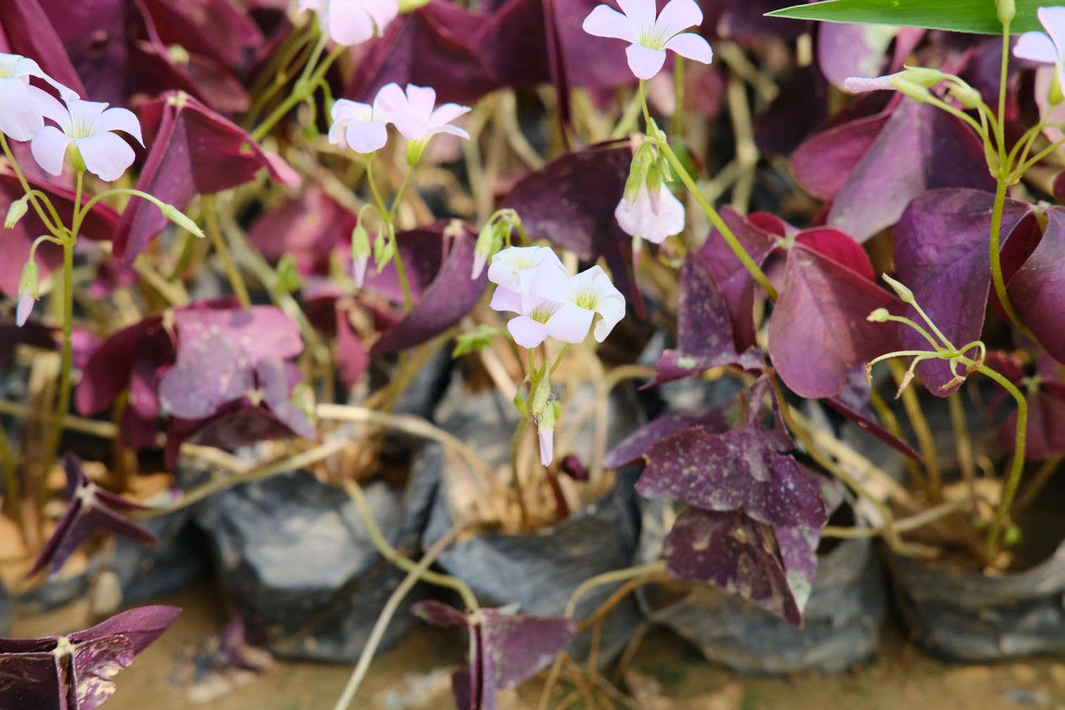
[[[63,96],[78,95],[40,70],[33,60],[0,52],[0,133],[14,141],[29,141],[45,127],[46,115],[54,113],[60,102],[30,83],[36,77],[47,81]]]

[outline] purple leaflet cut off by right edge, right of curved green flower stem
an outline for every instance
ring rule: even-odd
[[[1006,291],[1039,344],[1058,362],[1065,363],[1065,210],[1047,211],[1043,241],[1010,280]]]

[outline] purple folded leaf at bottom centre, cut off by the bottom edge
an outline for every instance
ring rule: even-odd
[[[518,605],[463,614],[427,599],[411,611],[435,626],[465,626],[470,632],[470,667],[453,677],[460,710],[495,710],[497,690],[514,688],[545,668],[576,633],[572,620],[519,614]]]

